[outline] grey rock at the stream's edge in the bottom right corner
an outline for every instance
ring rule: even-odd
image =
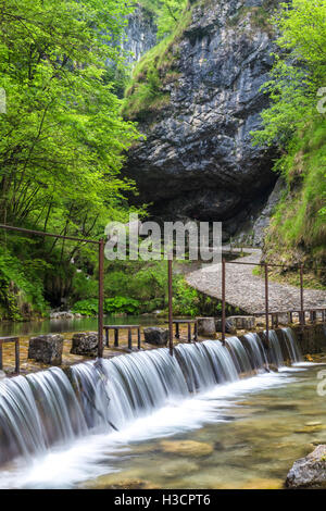
[[[296,461],[287,475],[288,488],[326,488],[326,445]]]

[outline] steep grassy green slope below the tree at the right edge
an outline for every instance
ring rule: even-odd
[[[292,137],[288,152],[277,164],[288,182],[266,238],[267,253],[280,254],[301,247],[321,263],[326,258],[326,224],[322,211],[326,194],[326,124],[316,121]]]

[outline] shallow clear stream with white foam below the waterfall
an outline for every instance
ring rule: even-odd
[[[283,367],[171,400],[118,432],[11,462],[0,471],[0,487],[280,487],[296,459],[326,444],[321,369]],[[201,449],[190,452],[188,444],[180,454],[185,441]]]

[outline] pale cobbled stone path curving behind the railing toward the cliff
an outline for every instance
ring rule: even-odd
[[[249,256],[242,262],[259,263],[260,249],[246,249]],[[226,264],[226,302],[250,314],[265,310],[264,279],[252,275],[254,266]],[[186,275],[190,286],[201,292],[221,299],[222,264],[211,264]],[[300,288],[269,281],[269,310],[289,311],[300,309]],[[326,308],[326,291],[305,289],[304,309]]]

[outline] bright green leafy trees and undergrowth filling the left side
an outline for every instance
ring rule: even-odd
[[[135,187],[120,170],[138,133],[120,114],[126,72],[116,41],[130,11],[120,0],[0,0],[0,223],[97,238],[109,221],[127,220],[124,194]],[[96,272],[95,247],[12,235],[0,244],[26,282],[32,261],[42,261],[35,286],[42,278],[55,306],[72,282],[73,299],[83,297],[77,269]]]

